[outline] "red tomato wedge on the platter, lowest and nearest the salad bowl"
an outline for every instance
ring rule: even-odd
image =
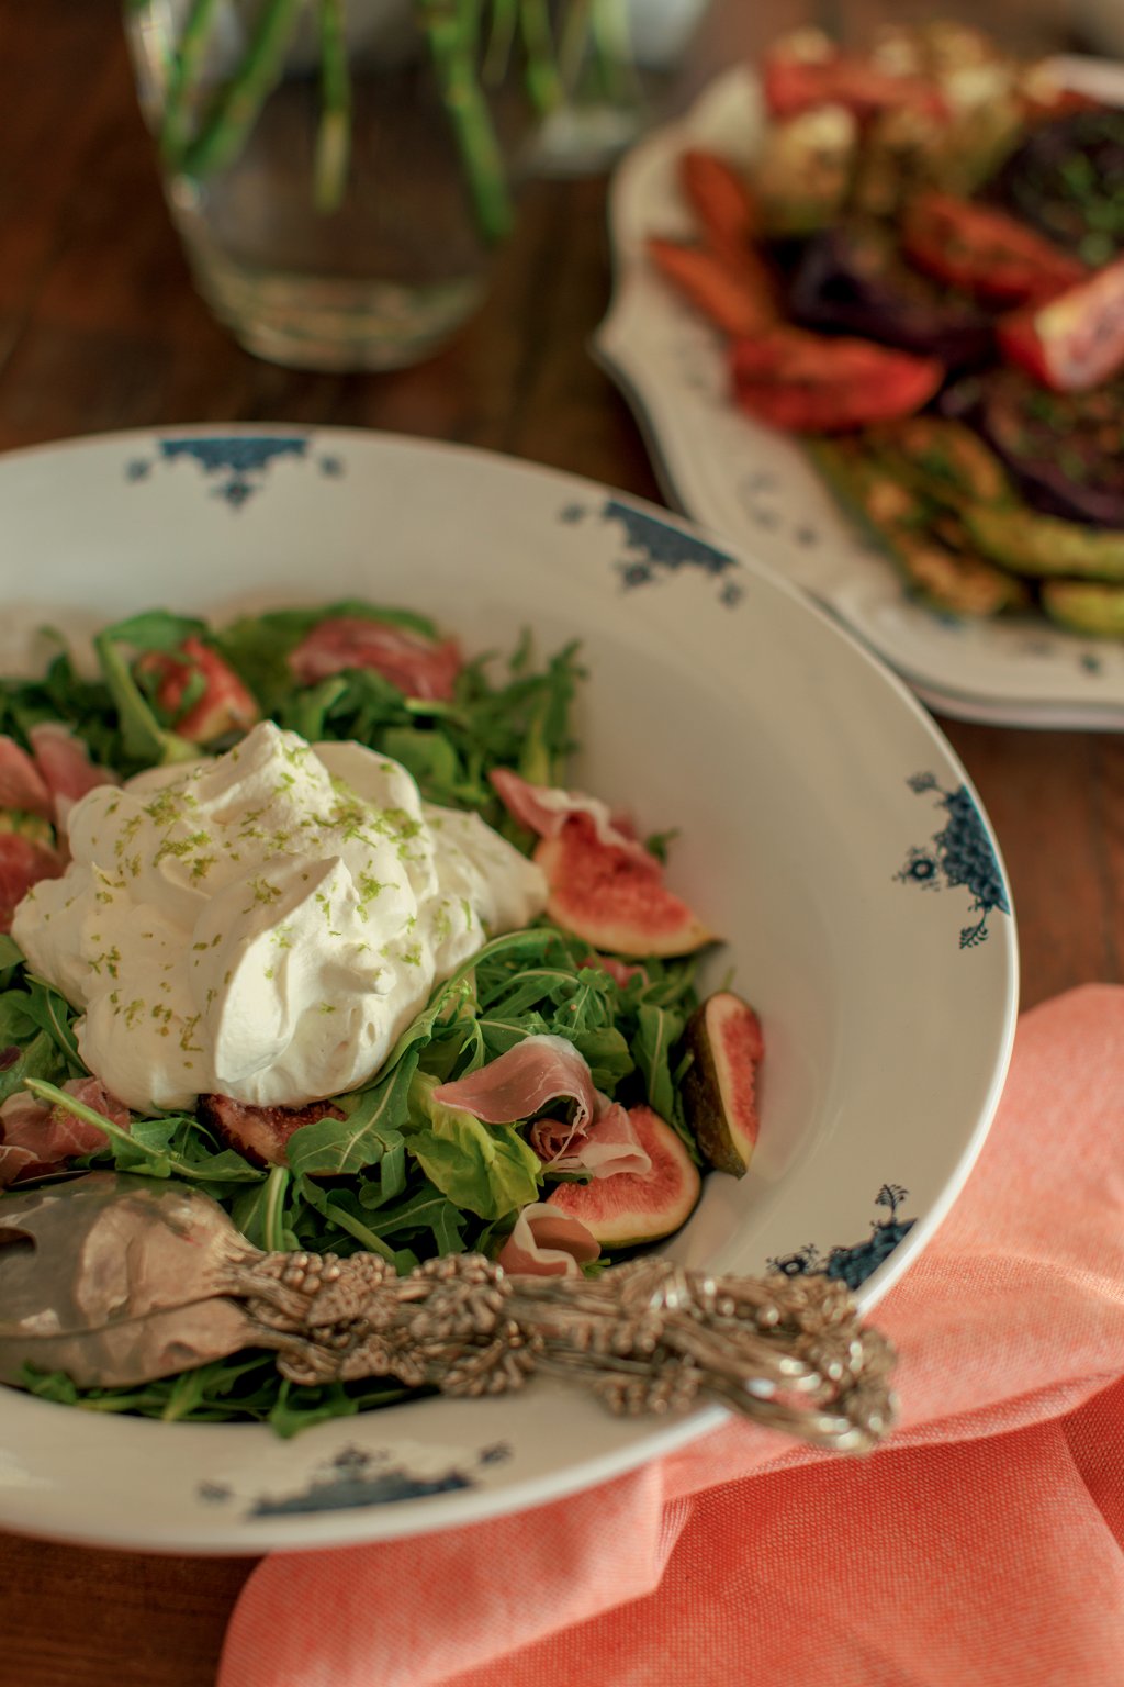
[[[731,371],[741,408],[790,434],[843,434],[912,415],[945,373],[935,358],[799,329],[738,341]]]

